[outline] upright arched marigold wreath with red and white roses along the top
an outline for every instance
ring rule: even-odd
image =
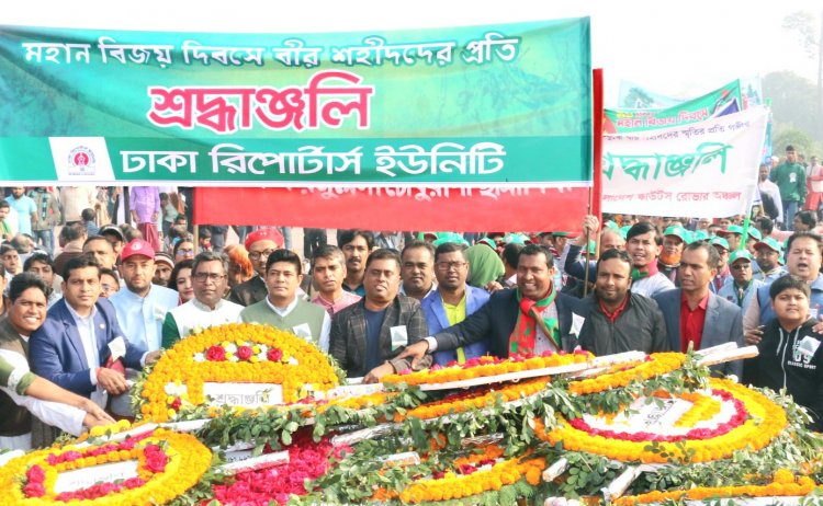
[[[205,382],[274,383],[293,403],[338,383],[313,344],[269,325],[228,323],[189,335],[166,350],[138,391],[143,417],[166,422],[181,407],[205,404]]]

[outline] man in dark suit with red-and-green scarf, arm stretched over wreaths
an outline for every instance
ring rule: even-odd
[[[399,358],[422,358],[426,353],[450,350],[487,340],[489,355],[540,355],[571,352],[570,335],[574,298],[561,294],[552,283],[554,255],[542,244],[520,251],[517,288],[492,294],[488,302],[462,322],[406,348]]]

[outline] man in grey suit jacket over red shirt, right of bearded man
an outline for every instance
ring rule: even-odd
[[[663,311],[672,349],[686,352],[704,349],[735,342],[743,345],[743,314],[741,309],[714,295],[709,285],[714,278],[720,254],[704,242],[692,242],[683,251],[678,277],[680,288],[654,296]],[[741,377],[743,363],[712,366],[712,372]]]

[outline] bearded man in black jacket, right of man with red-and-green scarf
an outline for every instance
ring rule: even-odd
[[[597,262],[595,292],[578,301],[574,313],[584,319],[580,347],[593,354],[668,352],[666,322],[657,302],[631,287],[632,261],[620,250],[606,251]]]

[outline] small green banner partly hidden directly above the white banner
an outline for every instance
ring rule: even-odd
[[[666,108],[607,108],[604,111],[604,134],[625,134],[688,125],[737,113],[744,108],[740,80],[734,80],[711,93]]]

